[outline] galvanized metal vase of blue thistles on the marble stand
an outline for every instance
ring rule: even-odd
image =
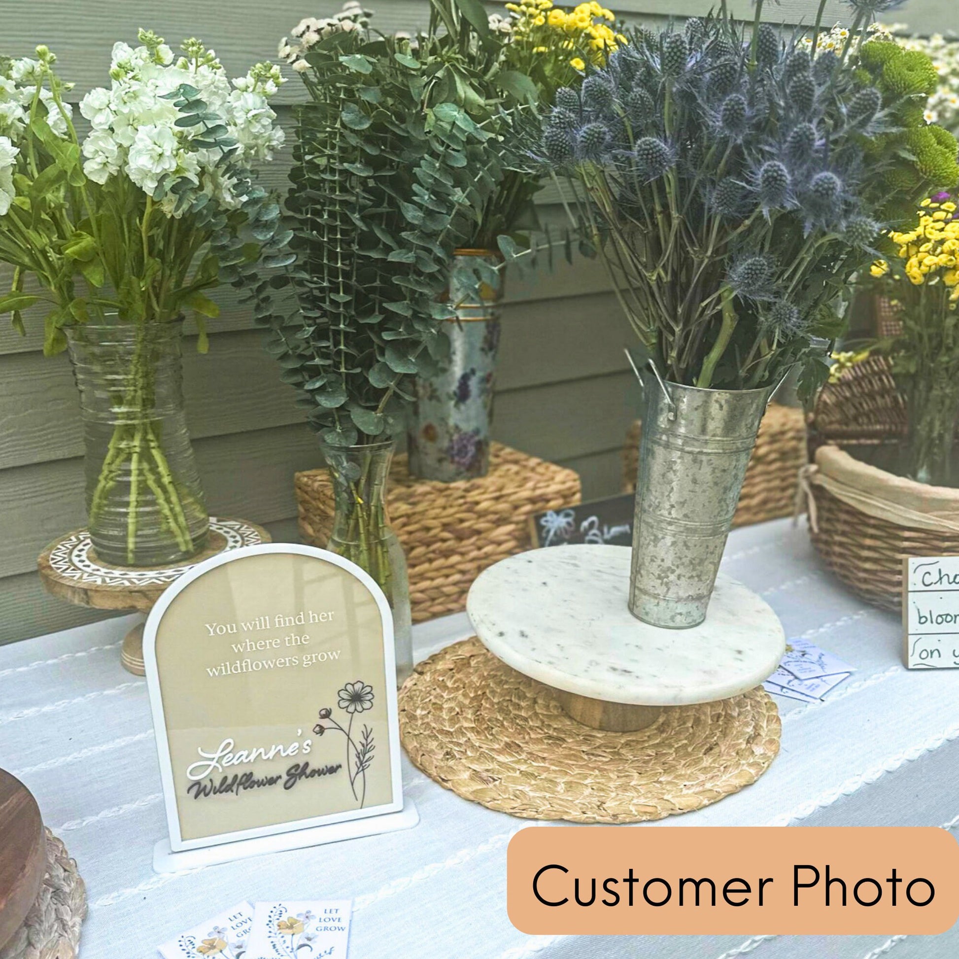
[[[700,389],[643,370],[629,609],[670,629],[706,609],[774,387]]]

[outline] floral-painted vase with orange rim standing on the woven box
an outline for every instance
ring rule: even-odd
[[[489,267],[479,285],[477,258]],[[407,437],[409,472],[415,477],[455,482],[489,471],[503,298],[502,272],[494,270],[500,263],[501,257],[489,250],[456,251],[449,291],[456,319],[446,324],[450,359],[433,376],[416,381]]]

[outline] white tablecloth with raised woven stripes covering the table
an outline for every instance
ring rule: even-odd
[[[865,606],[820,566],[788,521],[735,531],[724,572],[758,591],[803,636],[856,671],[823,703],[778,699],[780,757],[760,781],[659,824],[936,825],[959,819],[959,670],[901,666],[897,617]],[[56,602],[51,598],[50,602]],[[34,792],[86,880],[82,959],[138,959],[241,900],[354,901],[351,959],[938,959],[935,938],[529,937],[505,912],[505,852],[530,825],[459,799],[412,768],[414,829],[186,874],[152,872],[164,834],[143,680],[120,667],[130,620],[0,648],[0,766]],[[417,658],[469,635],[464,615],[415,630]],[[951,745],[950,745],[951,744]],[[563,828],[561,826],[554,828]]]

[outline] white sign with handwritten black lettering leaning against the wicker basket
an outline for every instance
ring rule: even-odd
[[[902,632],[907,668],[959,668],[959,556],[903,560]]]

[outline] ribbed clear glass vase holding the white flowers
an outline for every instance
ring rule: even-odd
[[[206,545],[183,409],[182,332],[179,320],[66,328],[80,390],[87,524],[108,563],[167,566]]]

